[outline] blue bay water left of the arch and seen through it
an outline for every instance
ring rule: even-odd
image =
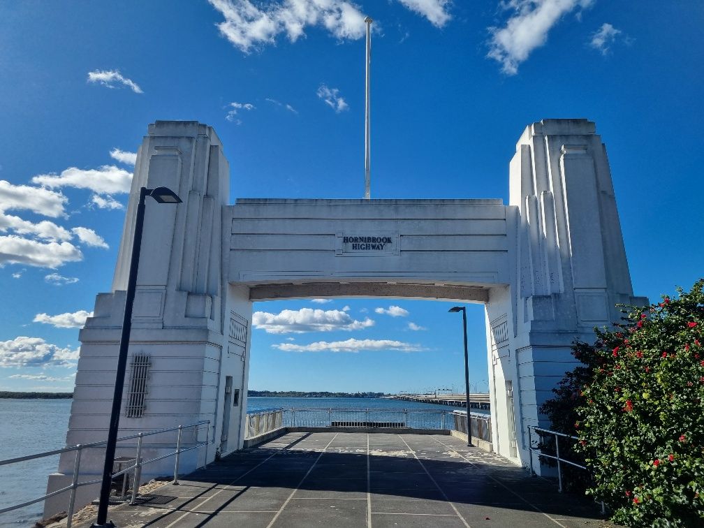
[[[432,403],[386,398],[247,398],[248,413],[281,408],[452,410]],[[62,448],[70,411],[71,400],[0,399],[0,460]],[[383,420],[376,416],[375,420]],[[0,508],[44,495],[48,475],[57,467],[58,455],[0,466]],[[0,514],[0,527],[32,526],[42,518],[43,508],[39,502]]]

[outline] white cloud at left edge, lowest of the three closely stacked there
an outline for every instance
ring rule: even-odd
[[[0,266],[13,263],[37,268],[58,268],[67,262],[79,260],[83,260],[83,253],[70,242],[45,244],[16,235],[0,237]]]

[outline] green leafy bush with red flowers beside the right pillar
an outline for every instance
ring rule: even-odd
[[[577,344],[588,489],[629,526],[704,526],[704,279]],[[573,391],[576,386],[571,386]]]

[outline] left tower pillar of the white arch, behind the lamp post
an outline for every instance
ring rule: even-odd
[[[184,203],[160,205],[147,199],[137,292],[132,317],[120,436],[210,420],[210,427],[184,431],[184,444],[208,438],[208,446],[184,453],[180,467],[189,472],[215,452],[241,444],[240,410],[246,356],[251,334],[249,289],[229,289],[229,232],[222,225],[230,198],[230,175],[222,144],[212,127],[199,122],[157,121],[149,125],[134,168],[125,227],[110,293],[96,297],[94,316],[80,332],[82,343],[66,444],[106,438],[115,382],[127,274],[132,253],[134,218],[140,187],[169,187]],[[130,363],[136,354],[149,358],[144,387],[132,387]],[[231,392],[225,381],[232,378]],[[130,391],[144,389],[144,410],[125,413]],[[239,391],[239,393],[237,393]],[[228,399],[229,398],[229,399]],[[237,399],[236,399],[237,398]],[[229,401],[229,413],[225,401]],[[234,404],[237,404],[235,406]],[[223,417],[230,427],[223,434]],[[144,458],[175,446],[176,433],[147,437]],[[134,441],[118,444],[117,456],[133,456]],[[102,471],[103,449],[82,456],[82,480]],[[143,479],[173,472],[174,458],[144,467]],[[61,457],[49,491],[70,483],[73,454]],[[96,496],[86,486],[83,505]],[[46,501],[45,514],[65,510],[68,494]]]

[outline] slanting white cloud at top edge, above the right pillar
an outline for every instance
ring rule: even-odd
[[[504,27],[490,27],[489,58],[501,63],[507,75],[518,73],[518,65],[545,44],[548,32],[562,15],[587,8],[593,0],[508,0],[503,7],[513,11]]]

